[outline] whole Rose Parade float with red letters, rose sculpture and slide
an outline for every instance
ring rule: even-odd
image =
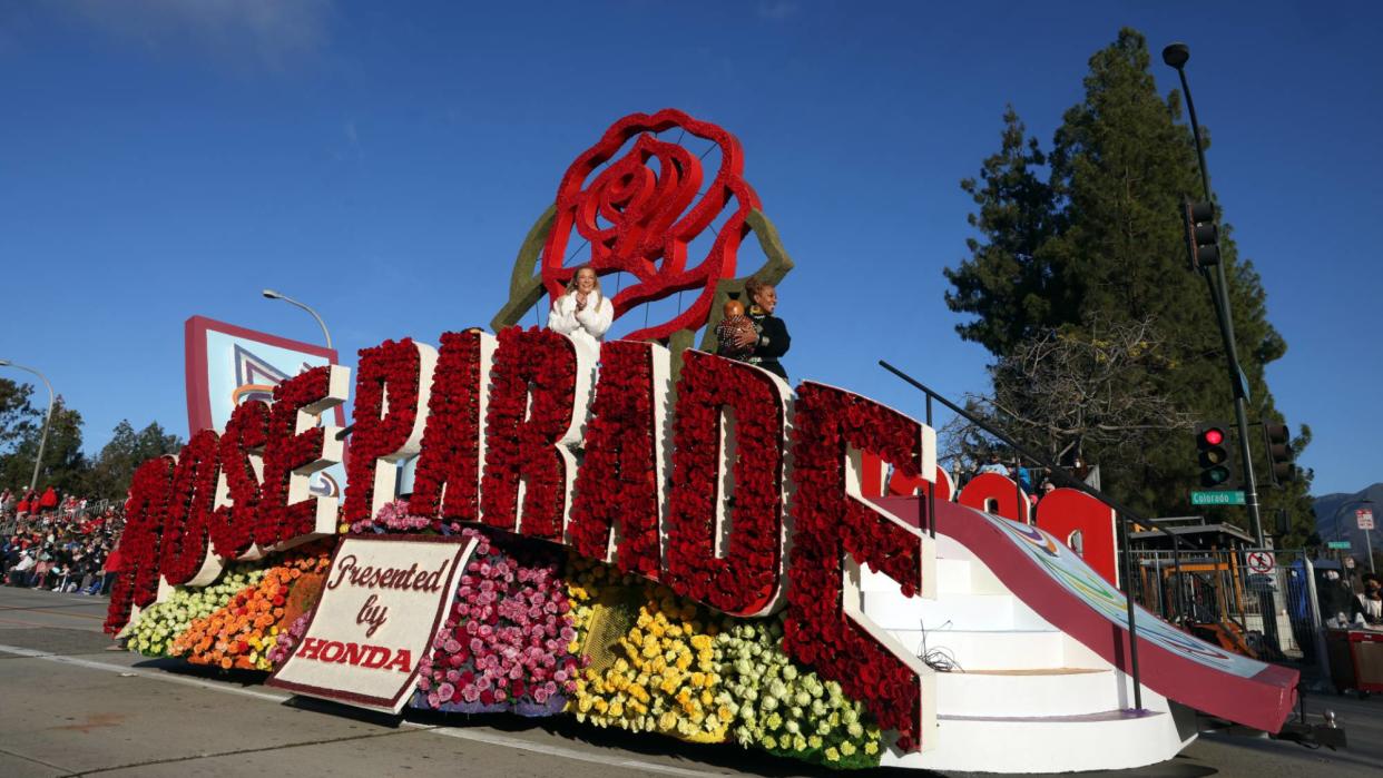
[[[743,171],[721,127],[621,119],[523,242],[492,333],[349,369],[191,318],[192,435],[136,473],[106,630],[390,713],[571,716],[835,768],[1151,764],[1196,712],[1277,731],[1296,673],[1130,611],[1108,506],[1032,510],[994,474],[957,492],[928,426],[708,352],[722,303],[792,268]],[[693,300],[599,348],[519,326],[578,243],[620,276],[615,316]]]

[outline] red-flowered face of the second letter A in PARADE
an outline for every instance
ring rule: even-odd
[[[615,564],[657,579],[658,462],[654,439],[653,344],[628,340],[600,345],[600,379],[591,405],[586,457],[567,528],[573,549],[610,560],[618,524]]]

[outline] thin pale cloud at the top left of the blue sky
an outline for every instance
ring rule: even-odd
[[[329,0],[77,0],[55,8],[151,51],[194,50],[268,69],[321,51],[333,15]]]

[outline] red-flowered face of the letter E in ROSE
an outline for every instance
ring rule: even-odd
[[[331,368],[304,370],[274,387],[274,405],[268,416],[268,441],[264,448],[264,481],[260,485],[259,525],[254,542],[270,547],[282,540],[311,533],[315,528],[314,500],[288,504],[293,471],[317,462],[326,431],[313,427],[297,431],[297,413],[326,397]]]

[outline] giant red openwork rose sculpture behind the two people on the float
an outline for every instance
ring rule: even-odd
[[[704,187],[701,160],[679,142],[656,137],[672,129],[719,148],[721,167]],[[596,169],[636,135],[628,153],[591,180]],[[614,297],[615,316],[676,292],[701,290],[676,318],[633,332],[626,336],[629,340],[664,340],[680,329],[700,328],[707,322],[716,283],[734,278],[736,253],[750,231],[745,217],[759,207],[759,198],[743,173],[740,141],[715,124],[671,108],[615,122],[561,177],[556,221],[542,250],[542,282],[548,293],[556,300],[575,272],[563,267],[575,234],[591,242],[589,264],[596,274],[624,271],[638,279]],[[705,229],[714,229],[711,222],[732,207],[732,200],[734,211],[714,231],[711,250],[704,257],[692,257],[689,267],[687,245]]]

